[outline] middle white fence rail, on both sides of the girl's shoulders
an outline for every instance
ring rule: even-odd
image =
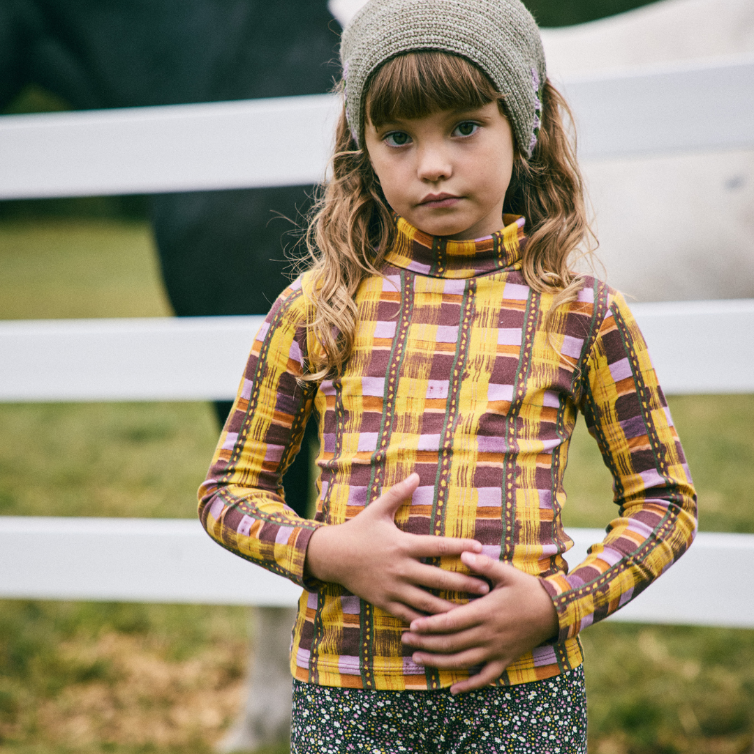
[[[632,309],[667,394],[754,392],[754,299]],[[0,322],[0,400],[231,399],[261,322]]]

